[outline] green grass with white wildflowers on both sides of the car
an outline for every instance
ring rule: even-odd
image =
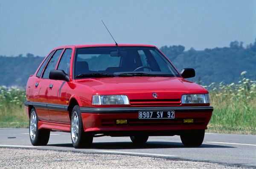
[[[209,90],[214,107],[207,132],[256,135],[256,81],[241,73],[239,83],[212,83]],[[25,91],[0,87],[0,128],[28,127],[28,115],[23,103]]]

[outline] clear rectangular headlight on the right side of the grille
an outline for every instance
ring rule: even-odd
[[[181,103],[210,103],[209,94],[182,95]]]

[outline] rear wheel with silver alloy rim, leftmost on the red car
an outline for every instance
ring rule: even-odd
[[[49,137],[50,130],[38,129],[38,116],[34,108],[30,111],[29,119],[29,138],[33,146],[46,146]]]

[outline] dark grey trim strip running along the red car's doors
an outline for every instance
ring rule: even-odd
[[[63,110],[63,111],[67,111],[67,107],[68,107],[67,105],[62,105],[62,104],[39,103],[39,102],[30,102],[30,101],[25,101],[24,105],[40,107],[44,109]]]

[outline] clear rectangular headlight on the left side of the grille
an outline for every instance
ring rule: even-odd
[[[130,104],[125,95],[93,95],[94,105]]]

